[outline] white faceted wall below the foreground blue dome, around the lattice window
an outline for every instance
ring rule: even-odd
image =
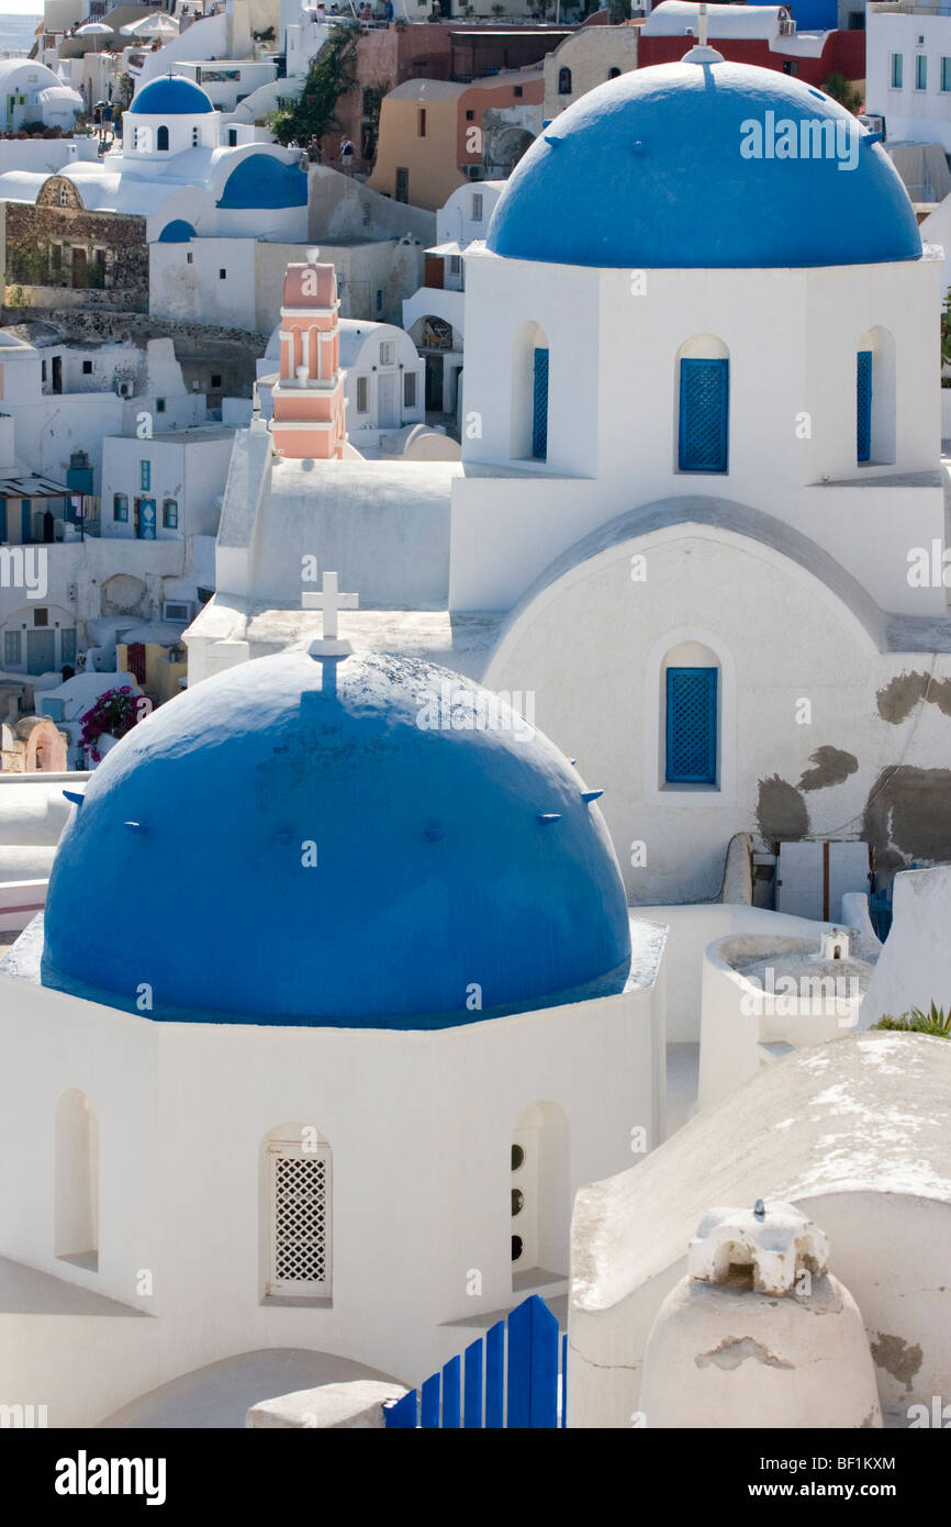
[[[153,1023],[0,985],[3,1051],[17,1055],[0,1075],[0,1141],[9,1150],[24,1128],[34,1141],[0,1182],[0,1254],[162,1322],[157,1364],[151,1347],[113,1361],[102,1341],[90,1362],[61,1344],[52,1426],[264,1347],[418,1382],[473,1336],[447,1322],[514,1303],[510,1145],[525,1110],[554,1102],[571,1122],[568,1193],[553,1206],[566,1251],[571,1194],[630,1161],[632,1121],[652,1130],[659,1106],[662,1015],[649,993],[395,1032]],[[52,1248],[53,1115],[67,1087],[87,1093],[99,1124],[98,1274]],[[333,1148],[333,1299],[319,1306],[263,1301],[261,1144],[285,1121],[313,1124]],[[151,1298],[140,1267],[153,1269]],[[481,1293],[467,1292],[473,1269]],[[9,1403],[35,1393],[49,1362],[44,1322],[29,1333],[6,1348]]]

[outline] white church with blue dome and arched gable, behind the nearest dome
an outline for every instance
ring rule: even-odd
[[[940,295],[821,92],[710,49],[606,82],[466,255],[459,464],[238,435],[192,681],[305,635],[310,554],[354,640],[533,695],[635,904],[716,896],[737,832],[858,838],[885,878],[940,857]]]

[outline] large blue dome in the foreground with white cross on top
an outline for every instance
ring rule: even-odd
[[[130,1011],[148,983],[154,1019],[406,1029],[618,989],[630,938],[601,815],[507,707],[459,727],[493,719],[490,699],[389,655],[339,663],[336,692],[307,654],[186,690],[89,782],[43,979]]]

